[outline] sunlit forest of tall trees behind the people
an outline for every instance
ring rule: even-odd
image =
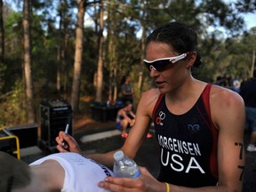
[[[241,13],[255,11],[253,0],[0,0],[0,127],[38,122],[45,99],[67,100],[86,118],[92,101],[118,98],[126,74],[136,108],[154,86],[142,61],[145,38],[174,20],[198,32],[197,78],[249,78],[256,28]]]

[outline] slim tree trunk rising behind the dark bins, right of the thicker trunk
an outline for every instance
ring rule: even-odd
[[[102,89],[103,89],[103,4],[100,1],[100,31],[99,31],[99,56],[98,56],[98,69],[97,69],[97,86],[96,86],[96,101],[102,100]]]

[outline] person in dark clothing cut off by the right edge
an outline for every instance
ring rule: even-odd
[[[246,150],[256,152],[256,69],[253,70],[253,77],[240,87],[240,95],[245,104],[245,129],[250,128],[251,131],[250,143]]]

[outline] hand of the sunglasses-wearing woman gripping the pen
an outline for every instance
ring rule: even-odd
[[[58,143],[57,149],[60,152],[70,151],[70,152],[82,154],[82,151],[79,148],[78,143],[76,142],[76,140],[71,135],[68,135],[65,132],[60,131],[59,136],[56,137],[55,140]],[[63,145],[63,143],[64,143],[64,145]]]

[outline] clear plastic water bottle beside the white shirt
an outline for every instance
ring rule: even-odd
[[[113,172],[115,177],[119,178],[137,178],[140,177],[140,169],[137,164],[129,157],[124,156],[122,150],[114,154]]]

